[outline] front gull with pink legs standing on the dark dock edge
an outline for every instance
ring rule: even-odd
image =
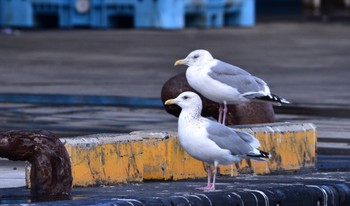
[[[178,134],[181,146],[192,157],[208,164],[208,184],[200,190],[215,190],[215,178],[219,164],[230,165],[243,158],[266,161],[270,155],[257,148],[259,140],[252,135],[211,121],[201,116],[202,100],[194,92],[183,92],[165,105],[181,107],[178,119]],[[210,165],[214,165],[211,182]]]

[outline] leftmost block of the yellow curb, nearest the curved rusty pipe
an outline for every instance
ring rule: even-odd
[[[143,139],[138,136],[98,134],[61,140],[70,156],[74,186],[143,180]]]

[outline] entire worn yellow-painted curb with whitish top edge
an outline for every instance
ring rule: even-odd
[[[222,175],[268,174],[312,169],[317,132],[313,124],[275,123],[236,127],[257,137],[268,162],[243,160],[220,166]],[[61,139],[67,148],[74,186],[110,185],[143,180],[206,177],[205,165],[180,146],[175,131],[139,131]]]

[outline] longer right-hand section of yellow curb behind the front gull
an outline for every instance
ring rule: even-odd
[[[220,166],[222,175],[269,174],[311,169],[316,163],[316,127],[313,124],[277,123],[244,125],[237,130],[257,137],[261,150],[269,152],[268,162],[243,160]],[[179,145],[176,132],[134,132],[144,139],[144,179],[179,180],[206,177],[205,165],[189,156]]]

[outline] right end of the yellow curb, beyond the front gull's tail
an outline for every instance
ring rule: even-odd
[[[237,128],[259,139],[260,149],[271,154],[268,162],[243,160],[235,164],[238,174],[268,174],[283,171],[311,169],[316,164],[317,131],[313,124],[266,124]],[[222,167],[221,174],[232,174]]]

